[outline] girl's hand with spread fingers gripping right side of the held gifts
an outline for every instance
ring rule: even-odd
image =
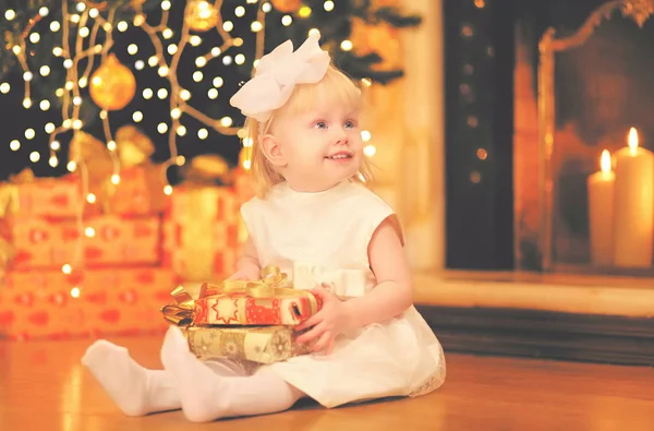
[[[334,347],[335,338],[349,327],[347,307],[324,288],[312,289],[311,292],[323,301],[323,308],[316,314],[295,326],[295,331],[304,331],[311,327],[307,333],[298,337],[298,343],[308,344],[317,339],[313,350],[323,350],[325,355],[329,355]]]

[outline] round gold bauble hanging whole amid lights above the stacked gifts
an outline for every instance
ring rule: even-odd
[[[121,110],[136,94],[136,79],[132,71],[109,55],[90,77],[93,101],[105,110]]]

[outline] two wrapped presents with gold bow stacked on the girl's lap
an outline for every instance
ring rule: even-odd
[[[199,358],[228,358],[244,364],[272,363],[310,352],[299,345],[294,326],[320,309],[308,290],[288,287],[274,266],[256,282],[204,284],[197,299],[179,287],[174,303],[162,308],[165,319],[181,326],[191,350]]]

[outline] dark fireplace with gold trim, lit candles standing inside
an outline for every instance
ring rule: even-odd
[[[449,267],[654,276],[653,12],[445,2]]]

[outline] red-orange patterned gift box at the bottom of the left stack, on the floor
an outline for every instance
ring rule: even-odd
[[[0,338],[160,334],[177,277],[166,268],[7,272],[0,289]]]

